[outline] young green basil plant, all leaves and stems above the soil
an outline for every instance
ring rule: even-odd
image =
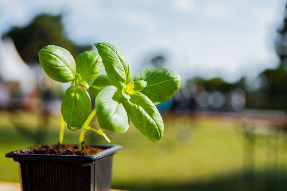
[[[46,74],[58,82],[71,82],[61,104],[59,144],[63,143],[64,128],[81,129],[79,151],[87,130],[110,140],[101,129],[90,127],[96,115],[102,129],[126,132],[129,121],[149,140],[162,138],[164,123],[155,105],[170,99],[180,87],[181,78],[168,68],[145,68],[131,81],[127,58],[115,46],[94,43],[98,52],[85,51],[75,59],[64,48],[49,45],[38,52]],[[106,75],[99,74],[105,69]],[[91,98],[96,98],[91,112]]]

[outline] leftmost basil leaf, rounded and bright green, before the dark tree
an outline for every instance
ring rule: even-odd
[[[66,49],[48,45],[38,52],[38,56],[42,68],[53,80],[69,82],[75,78],[75,60]]]

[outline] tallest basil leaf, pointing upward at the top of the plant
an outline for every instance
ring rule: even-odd
[[[122,88],[131,81],[131,68],[127,58],[117,47],[105,43],[94,43],[102,57],[103,64],[113,86]]]

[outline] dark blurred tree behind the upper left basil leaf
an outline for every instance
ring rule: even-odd
[[[61,15],[38,15],[26,27],[13,27],[3,38],[13,39],[20,56],[28,64],[38,63],[38,51],[50,44],[69,50],[74,57],[91,50],[91,46],[78,46],[67,39],[61,19]]]

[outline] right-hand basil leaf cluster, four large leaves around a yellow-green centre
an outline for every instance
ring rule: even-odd
[[[96,97],[100,127],[126,132],[130,120],[148,139],[153,142],[160,140],[164,124],[155,104],[174,95],[181,84],[180,76],[168,68],[146,68],[130,82],[131,69],[123,52],[104,42],[94,45],[112,84],[104,87]]]

